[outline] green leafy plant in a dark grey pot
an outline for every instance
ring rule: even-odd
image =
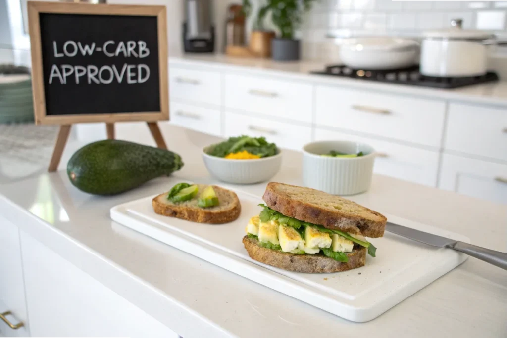
[[[245,1],[249,5],[249,0]],[[303,14],[311,9],[314,1],[316,0],[266,0],[261,7],[257,21],[264,20],[270,12],[271,20],[280,34],[272,40],[273,60],[299,60],[300,41],[294,35],[303,21]]]

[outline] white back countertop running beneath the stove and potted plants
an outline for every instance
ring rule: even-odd
[[[310,71],[323,70],[325,67],[325,63],[316,61],[276,62],[271,59],[232,58],[222,54],[183,54],[171,55],[169,57],[169,66],[185,64],[206,67],[208,69],[210,67],[229,69],[257,75],[280,75],[294,80],[305,80],[313,83],[346,86],[347,88],[373,90],[397,95],[408,94],[456,102],[507,106],[507,81],[489,82],[458,89],[433,89],[392,85],[341,76],[310,74]]]

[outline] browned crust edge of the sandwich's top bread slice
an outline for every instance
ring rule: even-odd
[[[321,225],[324,228],[332,230],[340,230],[351,234],[362,234],[365,237],[376,238],[384,235],[387,219],[374,210],[365,207],[368,212],[379,216],[381,221],[374,221],[356,215],[345,214],[339,210],[332,211],[319,207],[315,204],[289,198],[289,196],[277,189],[279,185],[283,184],[276,182],[268,183],[263,199],[267,206],[285,216]],[[304,189],[315,190],[310,188]]]

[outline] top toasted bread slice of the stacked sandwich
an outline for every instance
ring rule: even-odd
[[[263,199],[285,216],[366,237],[382,237],[387,223],[365,206],[310,188],[270,182]]]

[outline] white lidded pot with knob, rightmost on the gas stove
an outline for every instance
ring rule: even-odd
[[[424,32],[421,46],[421,74],[439,77],[484,75],[488,67],[488,48],[493,35],[461,28],[453,20],[450,29]]]

